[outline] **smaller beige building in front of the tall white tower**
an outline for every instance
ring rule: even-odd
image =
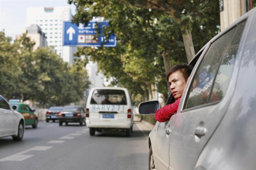
[[[33,24],[26,27],[26,33],[27,37],[30,37],[30,39],[35,42],[34,50],[38,47],[47,46],[47,38],[38,25]]]

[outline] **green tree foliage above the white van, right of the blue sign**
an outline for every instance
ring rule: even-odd
[[[163,57],[168,56],[173,63],[186,61],[180,29],[169,14],[135,8],[119,0],[69,3],[77,8],[73,22],[86,25],[93,17],[104,17],[109,23],[104,34],[114,32],[117,39],[116,48],[79,48],[77,56],[97,62],[99,70],[113,79],[112,85],[128,88],[132,96],[147,99],[152,84],[166,94]]]

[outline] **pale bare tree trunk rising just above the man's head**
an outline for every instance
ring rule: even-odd
[[[191,31],[185,30],[185,32],[182,34],[182,37],[183,37],[183,42],[186,50],[186,57],[188,62],[190,62],[195,56],[195,49],[193,45]]]

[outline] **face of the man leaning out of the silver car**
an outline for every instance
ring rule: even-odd
[[[180,71],[173,72],[168,79],[169,87],[175,100],[182,96],[183,90],[186,85],[186,80]]]

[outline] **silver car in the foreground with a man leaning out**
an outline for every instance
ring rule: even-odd
[[[149,134],[148,169],[255,170],[256,8],[189,64],[194,68],[177,113]],[[159,105],[143,102],[139,112],[154,114]]]

